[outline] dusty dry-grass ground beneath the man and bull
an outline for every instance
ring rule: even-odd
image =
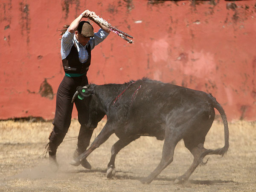
[[[99,123],[92,140],[105,124]],[[105,176],[113,143],[112,135],[93,151],[87,160],[92,169],[69,164],[76,147],[79,123],[72,120],[71,127],[58,148],[58,171],[51,170],[47,157],[42,156],[51,132],[51,122],[0,121],[0,191],[93,191],[93,192],[229,192],[256,191],[256,122],[229,123],[230,149],[226,156],[208,155],[205,166],[198,166],[184,184],[174,184],[192,163],[192,155],[180,141],[173,162],[153,180],[142,184],[161,159],[163,141],[154,137],[140,137],[123,148],[116,157],[116,176]],[[224,128],[215,120],[207,134],[205,147],[224,145]],[[205,158],[205,160],[207,159]]]

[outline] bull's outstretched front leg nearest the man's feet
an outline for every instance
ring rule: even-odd
[[[96,148],[98,148],[102,143],[104,143],[112,134],[114,133],[114,129],[109,123],[107,122],[102,131],[90,145],[90,147],[80,154],[76,159],[70,162],[73,166],[79,166],[81,161],[86,158],[91,152],[93,152]]]

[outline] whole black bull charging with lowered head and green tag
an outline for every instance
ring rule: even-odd
[[[115,174],[116,154],[140,136],[152,136],[164,140],[162,159],[156,169],[142,183],[151,183],[173,160],[174,149],[183,139],[186,148],[194,156],[189,169],[175,180],[188,180],[196,167],[203,163],[208,154],[224,155],[229,146],[227,118],[223,108],[211,95],[173,84],[142,79],[125,84],[90,84],[78,87],[77,95],[87,97],[89,105],[88,128],[96,128],[97,123],[107,115],[107,122],[90,145],[71,164],[78,166],[94,149],[115,133],[119,140],[111,148],[107,177]],[[215,118],[214,108],[221,114],[224,123],[223,148],[204,148],[207,132]]]

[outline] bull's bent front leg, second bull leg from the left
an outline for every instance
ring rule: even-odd
[[[128,137],[126,139],[119,139],[111,148],[111,158],[110,161],[108,163],[108,170],[106,173],[107,178],[112,178],[115,173],[115,160],[116,160],[116,155],[118,154],[118,152],[124,148],[126,145],[128,145],[129,143],[131,143],[132,141],[138,139],[140,136],[136,136],[136,137]]]

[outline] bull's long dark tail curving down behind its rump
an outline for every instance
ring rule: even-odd
[[[221,105],[216,101],[216,99],[214,97],[212,97],[213,100],[213,107],[216,108],[218,110],[218,112],[221,114],[221,118],[224,124],[224,140],[225,140],[225,144],[223,148],[218,148],[215,149],[211,152],[211,154],[219,154],[224,156],[224,154],[227,153],[228,147],[229,147],[229,131],[228,131],[228,124],[227,124],[227,116],[224,112],[224,109],[221,107]]]

